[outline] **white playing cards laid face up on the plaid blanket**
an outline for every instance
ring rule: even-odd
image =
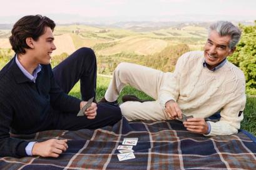
[[[138,138],[124,138],[123,145],[118,146],[118,151],[120,154],[117,154],[119,161],[125,161],[128,159],[134,159],[135,155],[133,154],[133,146],[136,146]]]

